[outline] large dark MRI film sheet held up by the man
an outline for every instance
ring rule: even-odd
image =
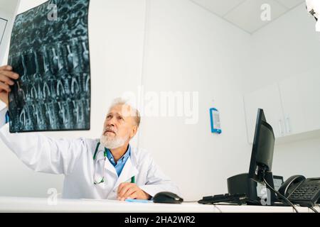
[[[89,0],[52,0],[16,16],[11,133],[90,129],[88,8]]]

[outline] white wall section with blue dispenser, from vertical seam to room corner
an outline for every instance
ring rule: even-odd
[[[186,200],[227,192],[226,179],[247,172],[242,79],[250,35],[191,1],[150,1],[144,90],[199,92],[198,123],[145,117],[139,145],[148,148]],[[214,99],[214,103],[213,100]],[[210,132],[210,107],[223,133]]]

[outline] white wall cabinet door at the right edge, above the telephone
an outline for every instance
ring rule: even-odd
[[[309,71],[279,83],[287,135],[320,128],[319,74]]]

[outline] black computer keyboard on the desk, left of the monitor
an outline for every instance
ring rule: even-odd
[[[216,204],[226,202],[230,204],[244,204],[247,201],[246,194],[216,194],[214,196],[204,196],[199,200],[199,204]]]

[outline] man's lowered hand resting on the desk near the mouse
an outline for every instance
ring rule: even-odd
[[[117,199],[124,201],[125,199],[150,199],[151,196],[140,189],[137,184],[121,183],[117,191]]]

